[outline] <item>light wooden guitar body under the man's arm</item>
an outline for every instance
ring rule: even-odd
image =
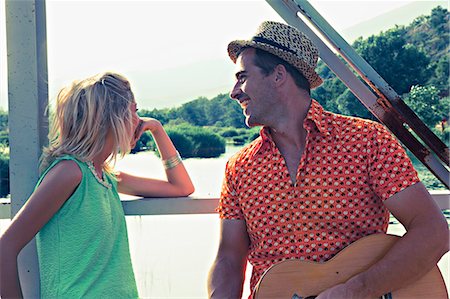
[[[305,299],[347,281],[380,260],[400,237],[374,234],[341,250],[324,263],[285,260],[269,268],[255,288],[255,299]],[[297,296],[297,297],[296,297]],[[413,284],[393,291],[385,298],[442,298],[447,290],[439,268],[435,266]]]

